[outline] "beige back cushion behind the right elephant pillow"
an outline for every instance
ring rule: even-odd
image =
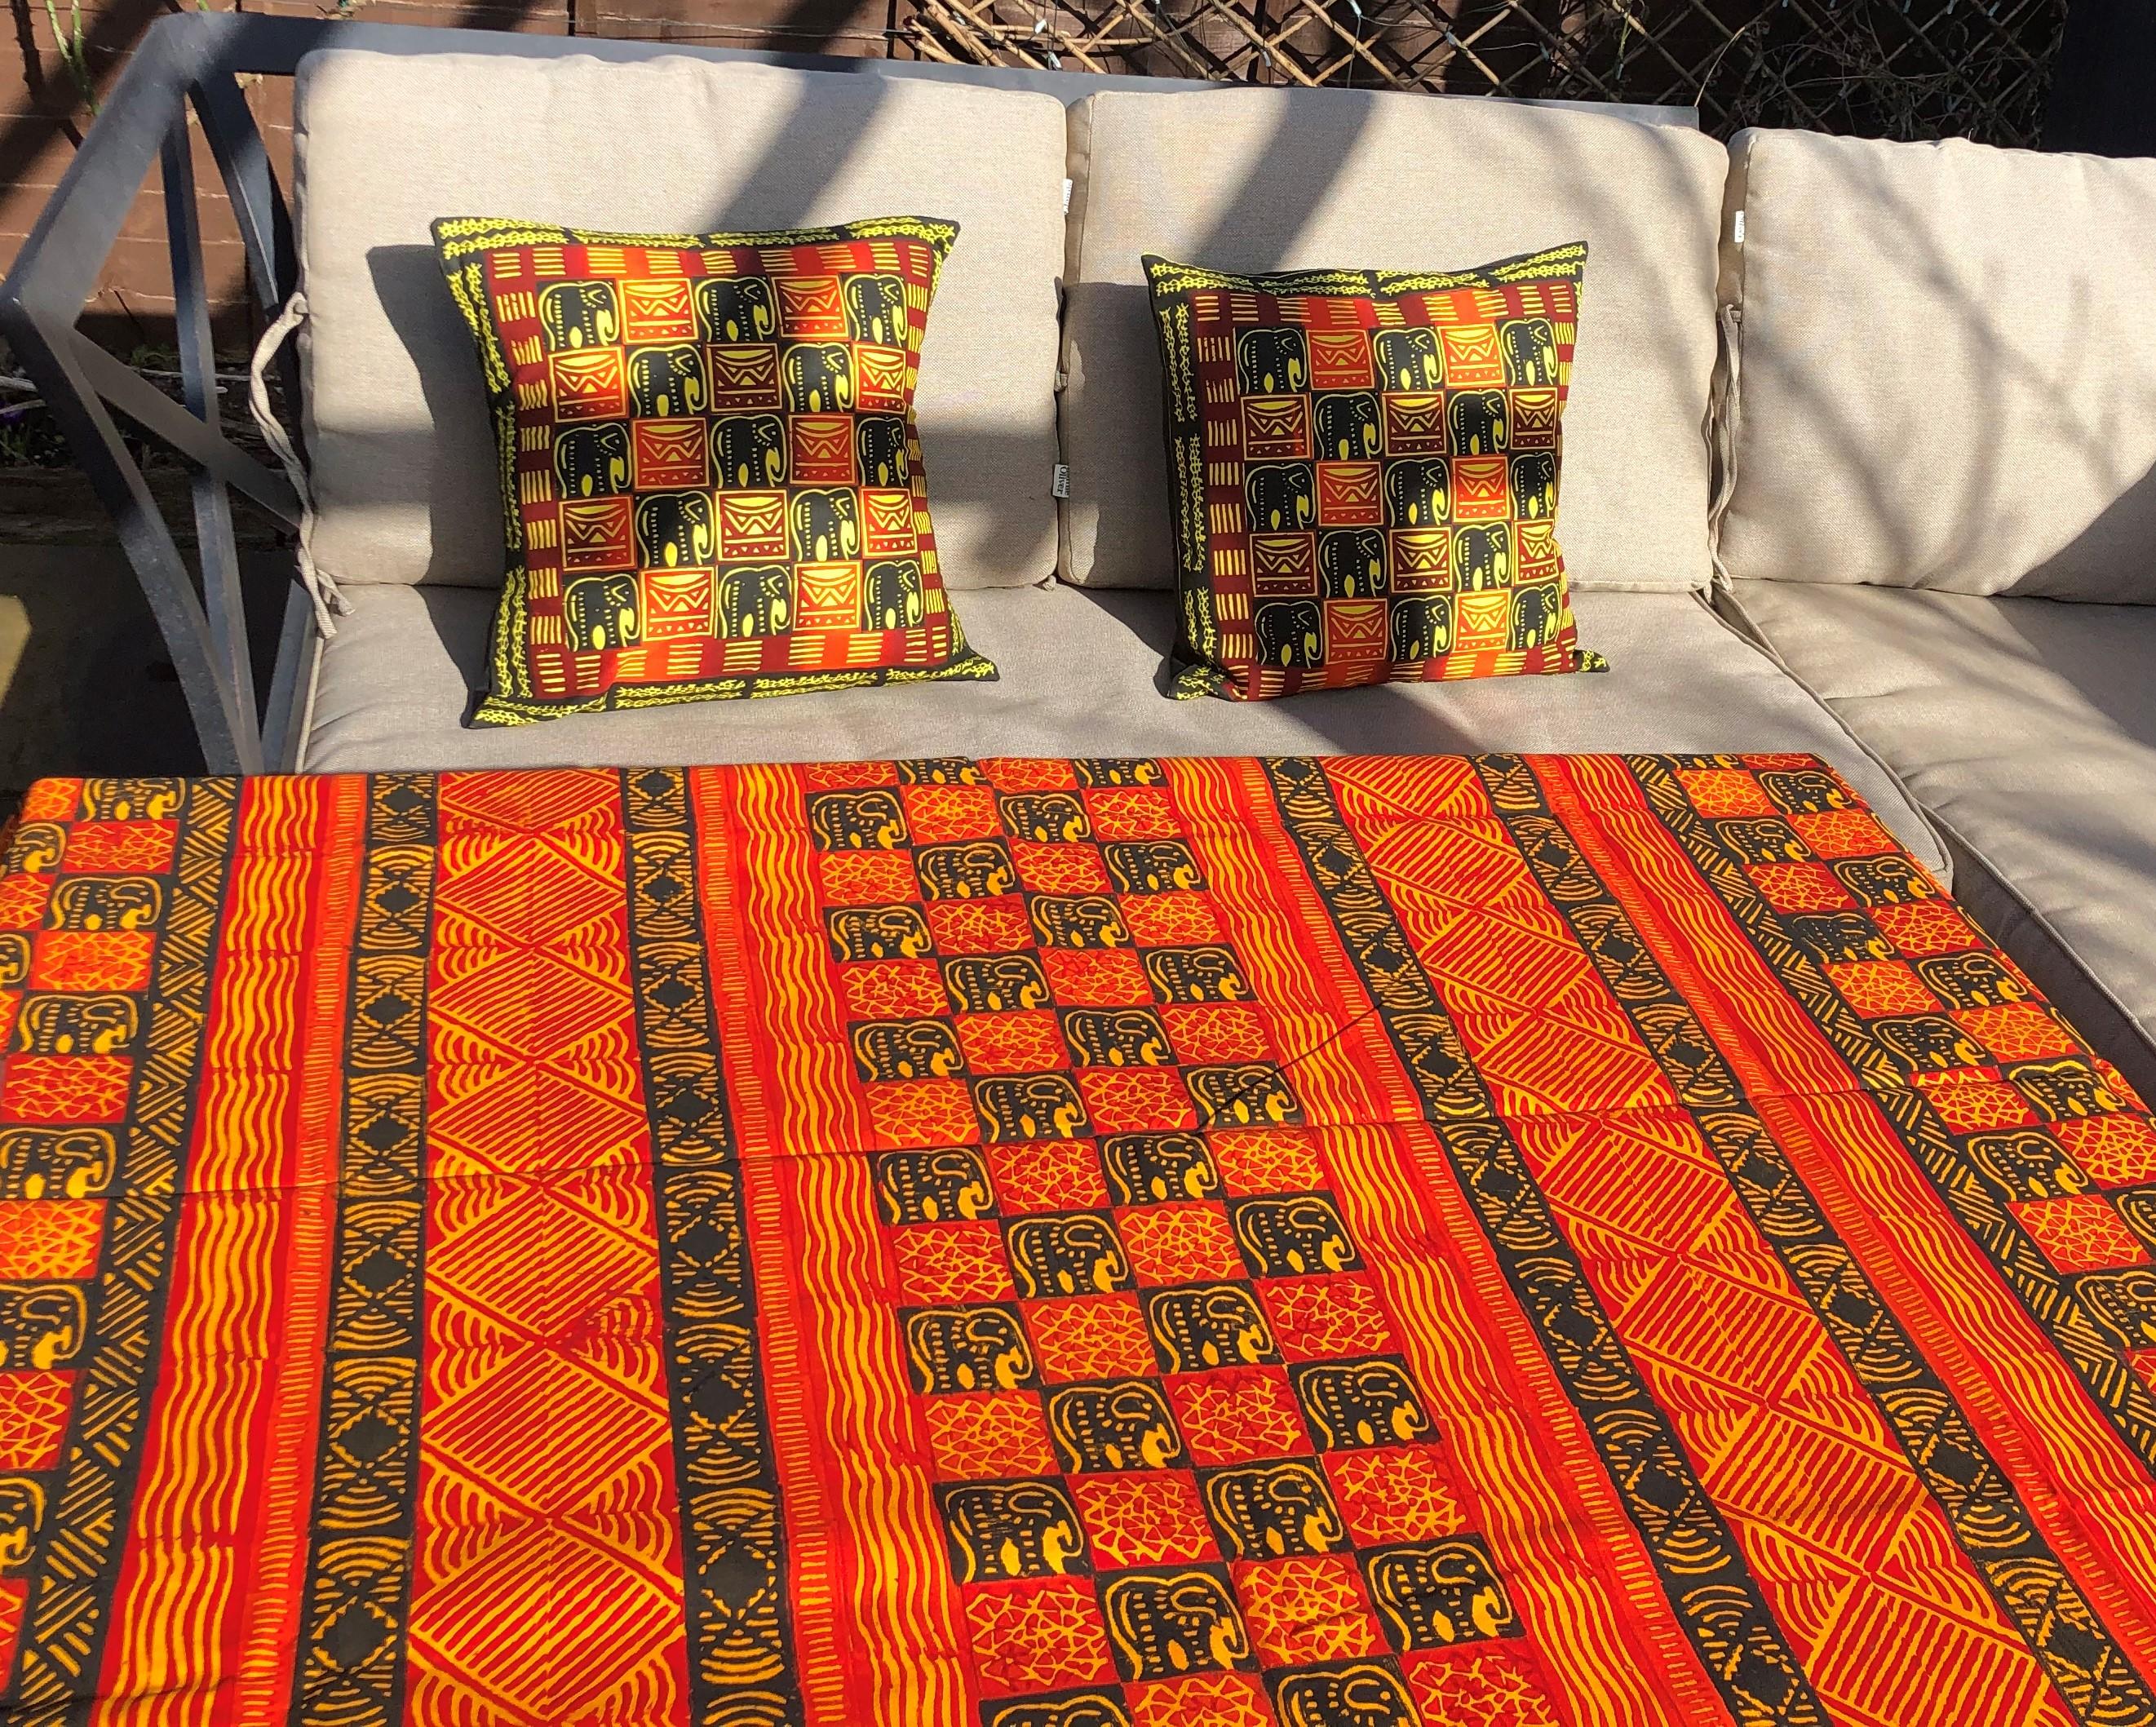
[[[1457,270],[1589,244],[1557,535],[1580,586],[1708,582],[1727,155],[1682,127],[1358,91],[1104,93],[1072,112],[1063,576],[1171,586],[1145,252]]]

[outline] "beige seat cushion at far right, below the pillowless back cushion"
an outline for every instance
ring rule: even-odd
[[[1738,599],[1938,819],[1962,903],[2156,1095],[2156,608],[1828,582]]]

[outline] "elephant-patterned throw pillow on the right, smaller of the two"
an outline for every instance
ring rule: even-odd
[[[1149,257],[1177,696],[1602,671],[1557,548],[1587,246],[1449,274]]]

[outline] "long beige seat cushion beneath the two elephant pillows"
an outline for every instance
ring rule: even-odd
[[[1294,701],[1173,701],[1164,593],[1052,584],[968,593],[996,683],[707,701],[468,731],[494,595],[354,586],[321,660],[306,768],[561,768],[925,755],[1341,755],[1813,750],[1940,865],[1893,780],[1759,649],[1688,593],[1591,593],[1580,632],[1611,673],[1382,683]]]

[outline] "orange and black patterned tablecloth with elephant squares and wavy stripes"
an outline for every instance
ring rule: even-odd
[[[50,780],[6,1723],[2156,1718],[2156,1132],[1809,757]]]

